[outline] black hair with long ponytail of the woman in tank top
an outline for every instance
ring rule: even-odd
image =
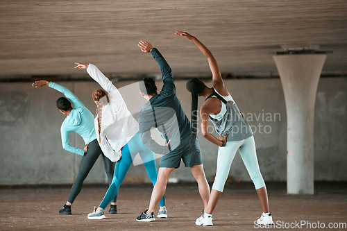
[[[205,90],[205,83],[198,78],[191,78],[186,84],[188,92],[192,93],[192,142],[195,142],[197,135],[197,124],[198,124],[198,94],[203,93]]]

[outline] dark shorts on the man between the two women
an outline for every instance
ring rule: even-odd
[[[186,167],[203,164],[198,138],[195,142],[191,142],[191,136],[183,138],[175,150],[162,155],[160,158],[160,168],[175,168],[180,167],[180,160],[183,160]]]

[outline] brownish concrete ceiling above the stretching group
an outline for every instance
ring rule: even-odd
[[[76,75],[74,62],[125,78],[157,73],[139,40],[157,46],[176,74],[209,75],[205,57],[175,31],[196,35],[223,73],[267,76],[276,72],[268,52],[310,44],[334,51],[323,71],[347,71],[344,0],[1,0],[0,12],[0,79]]]

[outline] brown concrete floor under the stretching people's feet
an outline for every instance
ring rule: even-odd
[[[194,224],[203,209],[194,184],[169,185],[166,194],[169,218],[151,223],[135,221],[149,203],[150,185],[121,187],[119,214],[106,213],[107,219],[101,221],[88,220],[87,213],[99,205],[106,190],[104,185],[85,186],[72,206],[72,215],[58,215],[67,200],[69,187],[2,188],[0,230],[254,230],[253,222],[262,211],[252,187],[250,183],[226,185],[214,211],[214,226],[210,228]],[[285,184],[268,183],[267,187],[276,230],[301,221],[319,221],[320,225],[347,223],[346,183],[316,184],[314,196],[287,195]],[[310,230],[306,226],[297,228],[294,230]],[[328,229],[325,226],[321,230]]]

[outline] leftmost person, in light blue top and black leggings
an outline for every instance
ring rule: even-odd
[[[60,97],[56,103],[57,108],[65,114],[67,117],[62,122],[61,126],[61,137],[62,137],[62,147],[71,153],[76,153],[78,155],[83,155],[80,168],[78,170],[78,175],[72,185],[69,198],[67,203],[59,210],[58,214],[71,214],[71,204],[74,203],[76,196],[80,193],[83,185],[83,181],[87,177],[90,169],[98,159],[99,155],[102,154],[103,161],[105,164],[105,171],[108,176],[109,184],[112,182],[113,178],[113,164],[112,162],[103,155],[99,143],[96,140],[96,132],[94,128],[94,115],[90,110],[88,110],[82,101],[80,101],[72,92],[66,87],[58,85],[56,83],[50,83],[46,80],[40,80],[33,83],[33,87],[43,87],[49,86],[56,89],[58,92],[62,92],[66,96]],[[74,108],[72,108],[70,101],[73,103]],[[85,141],[85,148],[76,148],[69,144],[69,135],[71,132],[76,132],[78,135],[83,137]],[[117,213],[112,212],[110,213]]]

